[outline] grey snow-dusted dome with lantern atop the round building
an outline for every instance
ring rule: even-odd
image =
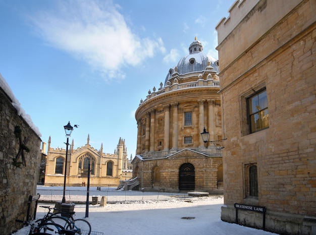
[[[206,67],[213,67],[214,71],[219,72],[217,60],[203,52],[203,45],[195,37],[195,40],[189,46],[189,54],[182,57],[176,67],[169,70],[165,86],[175,72],[178,74],[202,73],[206,70]]]

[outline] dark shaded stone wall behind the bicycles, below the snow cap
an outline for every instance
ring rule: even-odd
[[[8,235],[21,228],[15,219],[26,219],[29,195],[36,194],[38,167],[40,163],[40,138],[17,114],[11,99],[0,88],[0,234]],[[20,151],[15,128],[21,128],[21,140],[29,138],[24,150],[26,166],[13,163]],[[20,155],[18,162],[22,162]],[[33,212],[33,210],[32,210]]]

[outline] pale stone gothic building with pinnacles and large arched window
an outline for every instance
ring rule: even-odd
[[[88,164],[90,163],[90,185],[117,187],[122,177],[132,177],[131,159],[127,157],[125,140],[119,139],[114,153],[103,153],[103,145],[99,150],[89,144],[88,135],[85,146],[74,149],[74,141],[70,145],[67,158],[66,185],[82,186],[87,183]],[[66,149],[51,148],[50,137],[46,158],[45,185],[61,186],[64,184]]]

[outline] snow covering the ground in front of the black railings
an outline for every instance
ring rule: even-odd
[[[67,187],[68,188],[68,187]],[[249,228],[221,220],[222,196],[194,197],[186,201],[146,201],[125,204],[107,204],[100,207],[89,205],[86,218],[92,231],[106,234],[275,234],[260,229]],[[43,203],[38,204],[43,205]],[[47,204],[55,206],[55,204]],[[37,218],[44,215],[45,209],[37,207]],[[75,206],[76,218],[85,217],[85,204]],[[183,219],[182,217],[194,217]],[[24,235],[27,227],[13,233]]]

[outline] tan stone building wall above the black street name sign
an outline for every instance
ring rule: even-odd
[[[316,2],[289,1],[292,9],[286,15],[283,10],[276,13],[274,5],[280,2],[257,1],[218,47],[221,66],[221,56],[236,47],[241,34],[256,37],[251,44],[243,41],[240,54],[240,48],[232,50],[230,64],[226,60],[221,67],[228,138],[223,150],[226,207],[222,219],[235,222],[234,203],[254,204],[267,207],[267,230],[312,234],[316,232]],[[271,28],[252,31],[266,18],[274,22]],[[264,87],[269,128],[249,134],[246,98]],[[245,166],[249,163],[258,167],[257,198],[247,196]],[[242,211],[239,219],[261,228],[262,216],[253,214]]]

